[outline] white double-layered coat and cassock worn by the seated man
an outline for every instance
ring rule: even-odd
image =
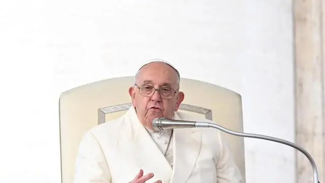
[[[174,119],[195,121],[198,117],[175,112]],[[140,169],[144,174],[154,173],[148,183],[159,179],[163,183],[243,182],[218,130],[186,128],[170,134],[147,130],[131,107],[120,118],[83,136],[74,183],[127,183]]]

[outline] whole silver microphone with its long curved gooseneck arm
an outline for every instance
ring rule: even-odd
[[[188,120],[175,120],[175,119],[169,119],[166,117],[154,118],[152,120],[152,127],[154,130],[168,130],[168,129],[177,129],[177,128],[215,128],[215,129],[221,130],[222,132],[225,132],[225,133],[228,133],[231,135],[235,135],[235,136],[264,139],[264,140],[278,142],[278,143],[282,143],[282,144],[294,147],[295,149],[299,150],[301,153],[303,153],[308,158],[308,160],[311,164],[311,167],[313,169],[314,183],[319,183],[317,167],[316,167],[315,161],[313,160],[312,156],[308,153],[307,150],[305,150],[304,148],[302,148],[301,146],[299,146],[295,143],[292,143],[292,142],[289,142],[289,141],[286,141],[283,139],[275,138],[275,137],[265,136],[265,135],[236,132],[236,131],[232,131],[227,128],[224,128],[224,127],[217,125],[215,123],[188,121]]]

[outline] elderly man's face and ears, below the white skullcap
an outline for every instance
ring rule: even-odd
[[[154,62],[145,65],[141,69],[136,84],[161,88],[168,86],[175,91],[179,89],[177,85],[176,71],[165,63]],[[180,103],[184,99],[182,92],[176,92],[173,98],[161,98],[158,91],[150,97],[144,97],[140,94],[137,86],[129,88],[129,94],[132,98],[132,104],[137,110],[137,115],[141,123],[152,129],[152,119],[156,117],[173,118],[174,111],[178,110]]]

